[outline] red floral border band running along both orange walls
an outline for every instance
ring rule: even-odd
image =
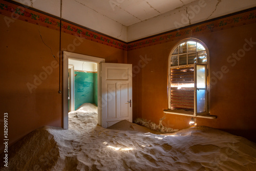
[[[204,24],[191,26],[185,29],[178,29],[169,33],[163,33],[158,36],[153,36],[150,38],[144,38],[142,40],[125,43],[122,41],[118,41],[114,38],[104,36],[92,30],[78,27],[68,22],[60,22],[60,19],[56,19],[54,17],[3,0],[0,0],[0,14],[58,31],[60,30],[61,25],[61,32],[79,36],[91,41],[98,42],[103,45],[111,46],[126,51],[162,44],[164,42],[186,38],[188,36],[196,35],[199,33],[209,33],[218,30],[256,23],[256,10],[251,10],[248,12],[213,20],[212,22],[206,22]]]

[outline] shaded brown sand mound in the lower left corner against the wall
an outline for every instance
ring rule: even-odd
[[[53,135],[47,127],[41,127],[9,148],[8,167],[3,167],[2,162],[1,170],[50,170],[58,158],[59,149]]]

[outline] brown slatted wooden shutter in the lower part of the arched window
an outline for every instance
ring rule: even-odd
[[[171,109],[194,111],[194,67],[171,69],[170,87]]]

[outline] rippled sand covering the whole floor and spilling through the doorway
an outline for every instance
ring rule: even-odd
[[[256,144],[245,138],[205,126],[157,135],[127,121],[104,129],[97,125],[96,110],[84,104],[71,113],[69,130],[38,129],[16,147],[9,165],[19,166],[16,170],[35,170],[36,164],[37,170],[256,170]],[[52,148],[58,151],[54,162],[44,162]],[[33,162],[26,165],[27,159]]]

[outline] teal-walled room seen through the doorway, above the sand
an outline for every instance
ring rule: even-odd
[[[69,112],[83,103],[98,106],[97,63],[69,58]]]

